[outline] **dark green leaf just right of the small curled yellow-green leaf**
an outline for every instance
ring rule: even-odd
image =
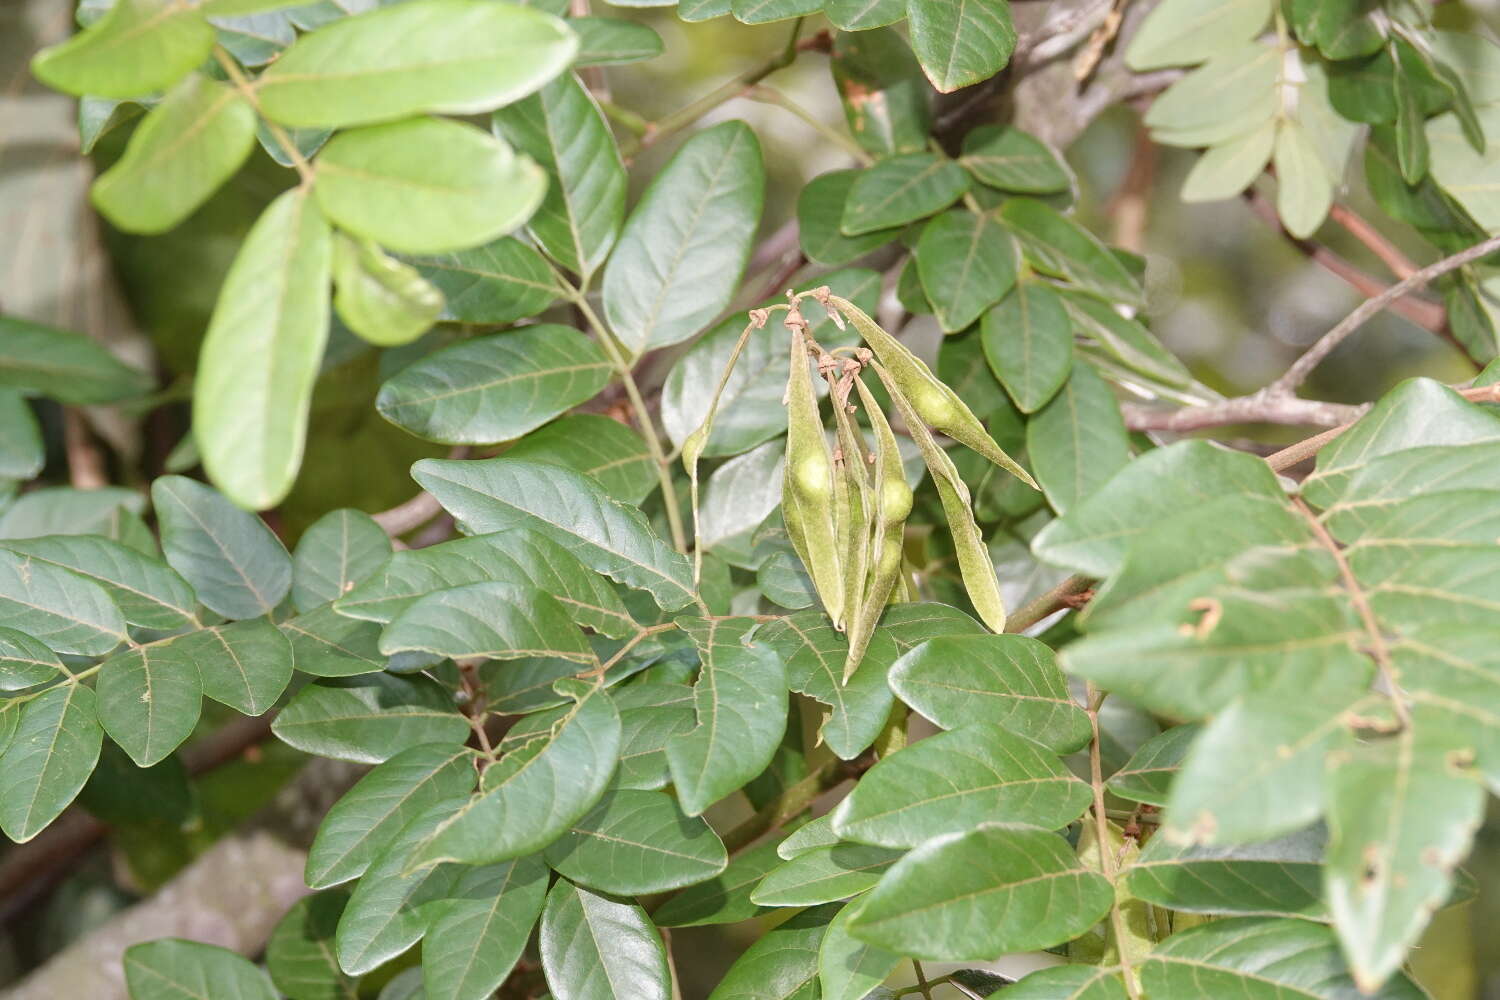
[[[543,204],[544,210],[544,204]],[[558,297],[546,259],[513,237],[411,264],[442,292],[442,318],[458,322],[514,322],[534,316]]]

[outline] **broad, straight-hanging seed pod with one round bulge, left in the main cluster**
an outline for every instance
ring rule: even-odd
[[[790,319],[790,316],[789,316]],[[792,363],[786,378],[786,471],[782,478],[782,517],[798,558],[828,616],[843,616],[843,576],[834,532],[834,462],[818,412],[813,376],[807,370],[807,339],[792,330]]]

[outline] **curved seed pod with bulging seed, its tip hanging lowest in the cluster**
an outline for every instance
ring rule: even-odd
[[[858,615],[849,618],[849,654],[844,657],[844,682],[854,676],[864,658],[864,651],[874,636],[874,628],[890,603],[891,591],[902,579],[902,541],[906,532],[906,516],[912,513],[912,487],[906,484],[902,469],[902,451],[896,445],[891,424],[880,412],[874,394],[864,381],[855,379],[860,402],[870,415],[870,430],[874,435],[874,529],[870,541],[870,570],[867,573],[864,600]]]

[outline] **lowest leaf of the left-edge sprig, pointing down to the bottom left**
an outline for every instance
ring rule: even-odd
[[[94,703],[93,690],[74,682],[22,706],[0,756],[0,829],[15,843],[40,834],[93,774],[104,745]]]

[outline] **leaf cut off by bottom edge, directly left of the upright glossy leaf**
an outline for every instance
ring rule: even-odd
[[[465,873],[459,898],[432,906],[422,939],[422,987],[428,1000],[478,1000],[520,960],[548,895],[548,870],[519,858]]]

